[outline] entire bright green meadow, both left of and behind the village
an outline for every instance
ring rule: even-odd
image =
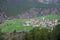
[[[45,18],[48,18],[50,20],[52,19],[59,19],[60,16],[58,15],[48,15],[44,16]],[[36,20],[41,20],[42,17],[36,17],[36,18],[31,18],[31,19],[36,19]],[[12,19],[12,20],[5,20],[3,24],[0,24],[0,28],[2,29],[2,32],[13,32],[16,30],[17,32],[21,32],[24,29],[26,30],[31,30],[33,27],[25,27],[23,26],[23,23],[28,20],[28,19]]]

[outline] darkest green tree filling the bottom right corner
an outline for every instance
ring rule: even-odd
[[[55,26],[51,34],[51,40],[60,40],[60,24]]]

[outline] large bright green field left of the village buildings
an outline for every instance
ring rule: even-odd
[[[6,20],[3,24],[0,24],[0,28],[2,32],[13,32],[16,30],[17,32],[21,32],[26,28],[27,30],[32,29],[32,27],[24,27],[23,23],[26,19],[13,19],[13,20]]]

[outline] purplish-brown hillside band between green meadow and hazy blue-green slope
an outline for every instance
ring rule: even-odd
[[[60,15],[59,8],[31,8],[21,14],[18,14],[18,18],[35,18],[38,16],[47,16],[50,14],[58,14]]]

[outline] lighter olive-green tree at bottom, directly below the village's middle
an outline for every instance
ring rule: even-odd
[[[48,40],[48,31],[36,27],[32,30],[33,40]]]

